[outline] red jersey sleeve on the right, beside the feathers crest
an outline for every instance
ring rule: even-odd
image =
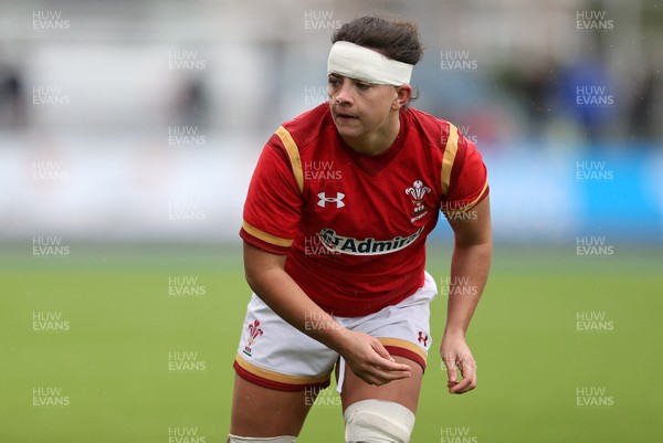
[[[441,209],[446,213],[472,209],[490,191],[487,169],[474,144],[460,131],[456,143],[457,150],[451,169],[449,190],[441,202]]]

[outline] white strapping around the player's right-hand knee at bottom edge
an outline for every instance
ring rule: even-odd
[[[383,400],[361,400],[344,412],[346,443],[408,443],[414,414],[408,408]]]

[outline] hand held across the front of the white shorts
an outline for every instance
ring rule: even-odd
[[[355,376],[368,384],[382,386],[412,377],[411,368],[397,363],[377,338],[351,330],[346,330],[346,334],[340,355]]]

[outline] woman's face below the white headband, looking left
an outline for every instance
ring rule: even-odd
[[[328,94],[334,123],[346,140],[389,134],[399,124],[398,87],[329,74]]]

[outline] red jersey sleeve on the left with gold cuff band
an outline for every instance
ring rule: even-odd
[[[265,145],[251,178],[240,236],[274,254],[287,254],[299,226],[302,193],[277,138]]]

